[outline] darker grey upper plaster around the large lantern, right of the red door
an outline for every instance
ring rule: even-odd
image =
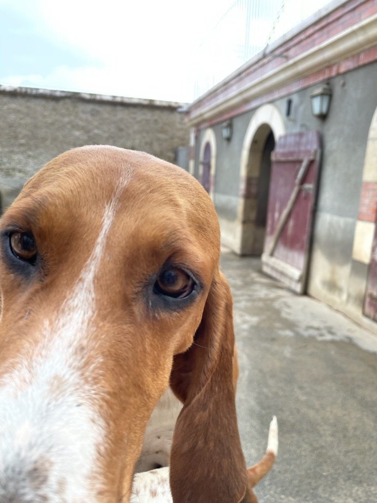
[[[317,209],[355,218],[358,212],[366,140],[377,106],[377,63],[329,79],[330,111],[325,120],[313,117],[313,86],[290,96],[292,118],[285,118],[287,133],[317,129],[322,133],[321,186]],[[274,104],[285,115],[286,97]]]

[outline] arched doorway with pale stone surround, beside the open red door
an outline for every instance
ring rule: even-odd
[[[241,187],[238,220],[241,224],[240,254],[261,255],[266,226],[271,152],[285,134],[280,112],[263,105],[247,128],[241,153]]]

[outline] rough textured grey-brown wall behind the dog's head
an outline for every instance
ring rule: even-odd
[[[170,162],[189,144],[181,104],[0,88],[0,176],[30,177],[72,147],[111,144]]]

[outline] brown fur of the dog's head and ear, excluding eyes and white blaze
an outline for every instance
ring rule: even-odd
[[[77,349],[85,365],[100,355],[104,362],[90,377],[106,396],[95,404],[108,425],[98,458],[105,487],[99,501],[128,501],[146,422],[169,378],[184,402],[171,453],[174,503],[255,501],[237,429],[238,367],[217,217],[200,184],[172,164],[115,147],[82,147],[53,159],[25,185],[1,228],[33,232],[43,266],[25,281],[0,262],[0,377],[23,348],[34,343],[38,351],[41,320],[58,315],[125,173],[130,180],[96,277],[98,341],[91,354]],[[156,313],[143,288],[169,258],[193,271],[203,288],[185,309]]]

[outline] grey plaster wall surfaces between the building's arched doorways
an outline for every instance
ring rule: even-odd
[[[317,119],[311,113],[310,94],[318,86],[273,102],[284,118],[287,133],[317,129],[322,134],[322,164],[308,292],[358,321],[362,316],[367,267],[352,260],[352,246],[366,141],[377,107],[376,77],[377,63],[371,63],[329,78],[332,99],[325,120]],[[285,116],[288,98],[293,100],[289,118]],[[212,126],[217,140],[214,201],[219,216],[234,224],[237,219],[240,155],[254,112],[233,117],[230,143],[222,139],[220,123]],[[199,133],[199,140],[202,134]],[[198,145],[200,148],[200,141]]]

